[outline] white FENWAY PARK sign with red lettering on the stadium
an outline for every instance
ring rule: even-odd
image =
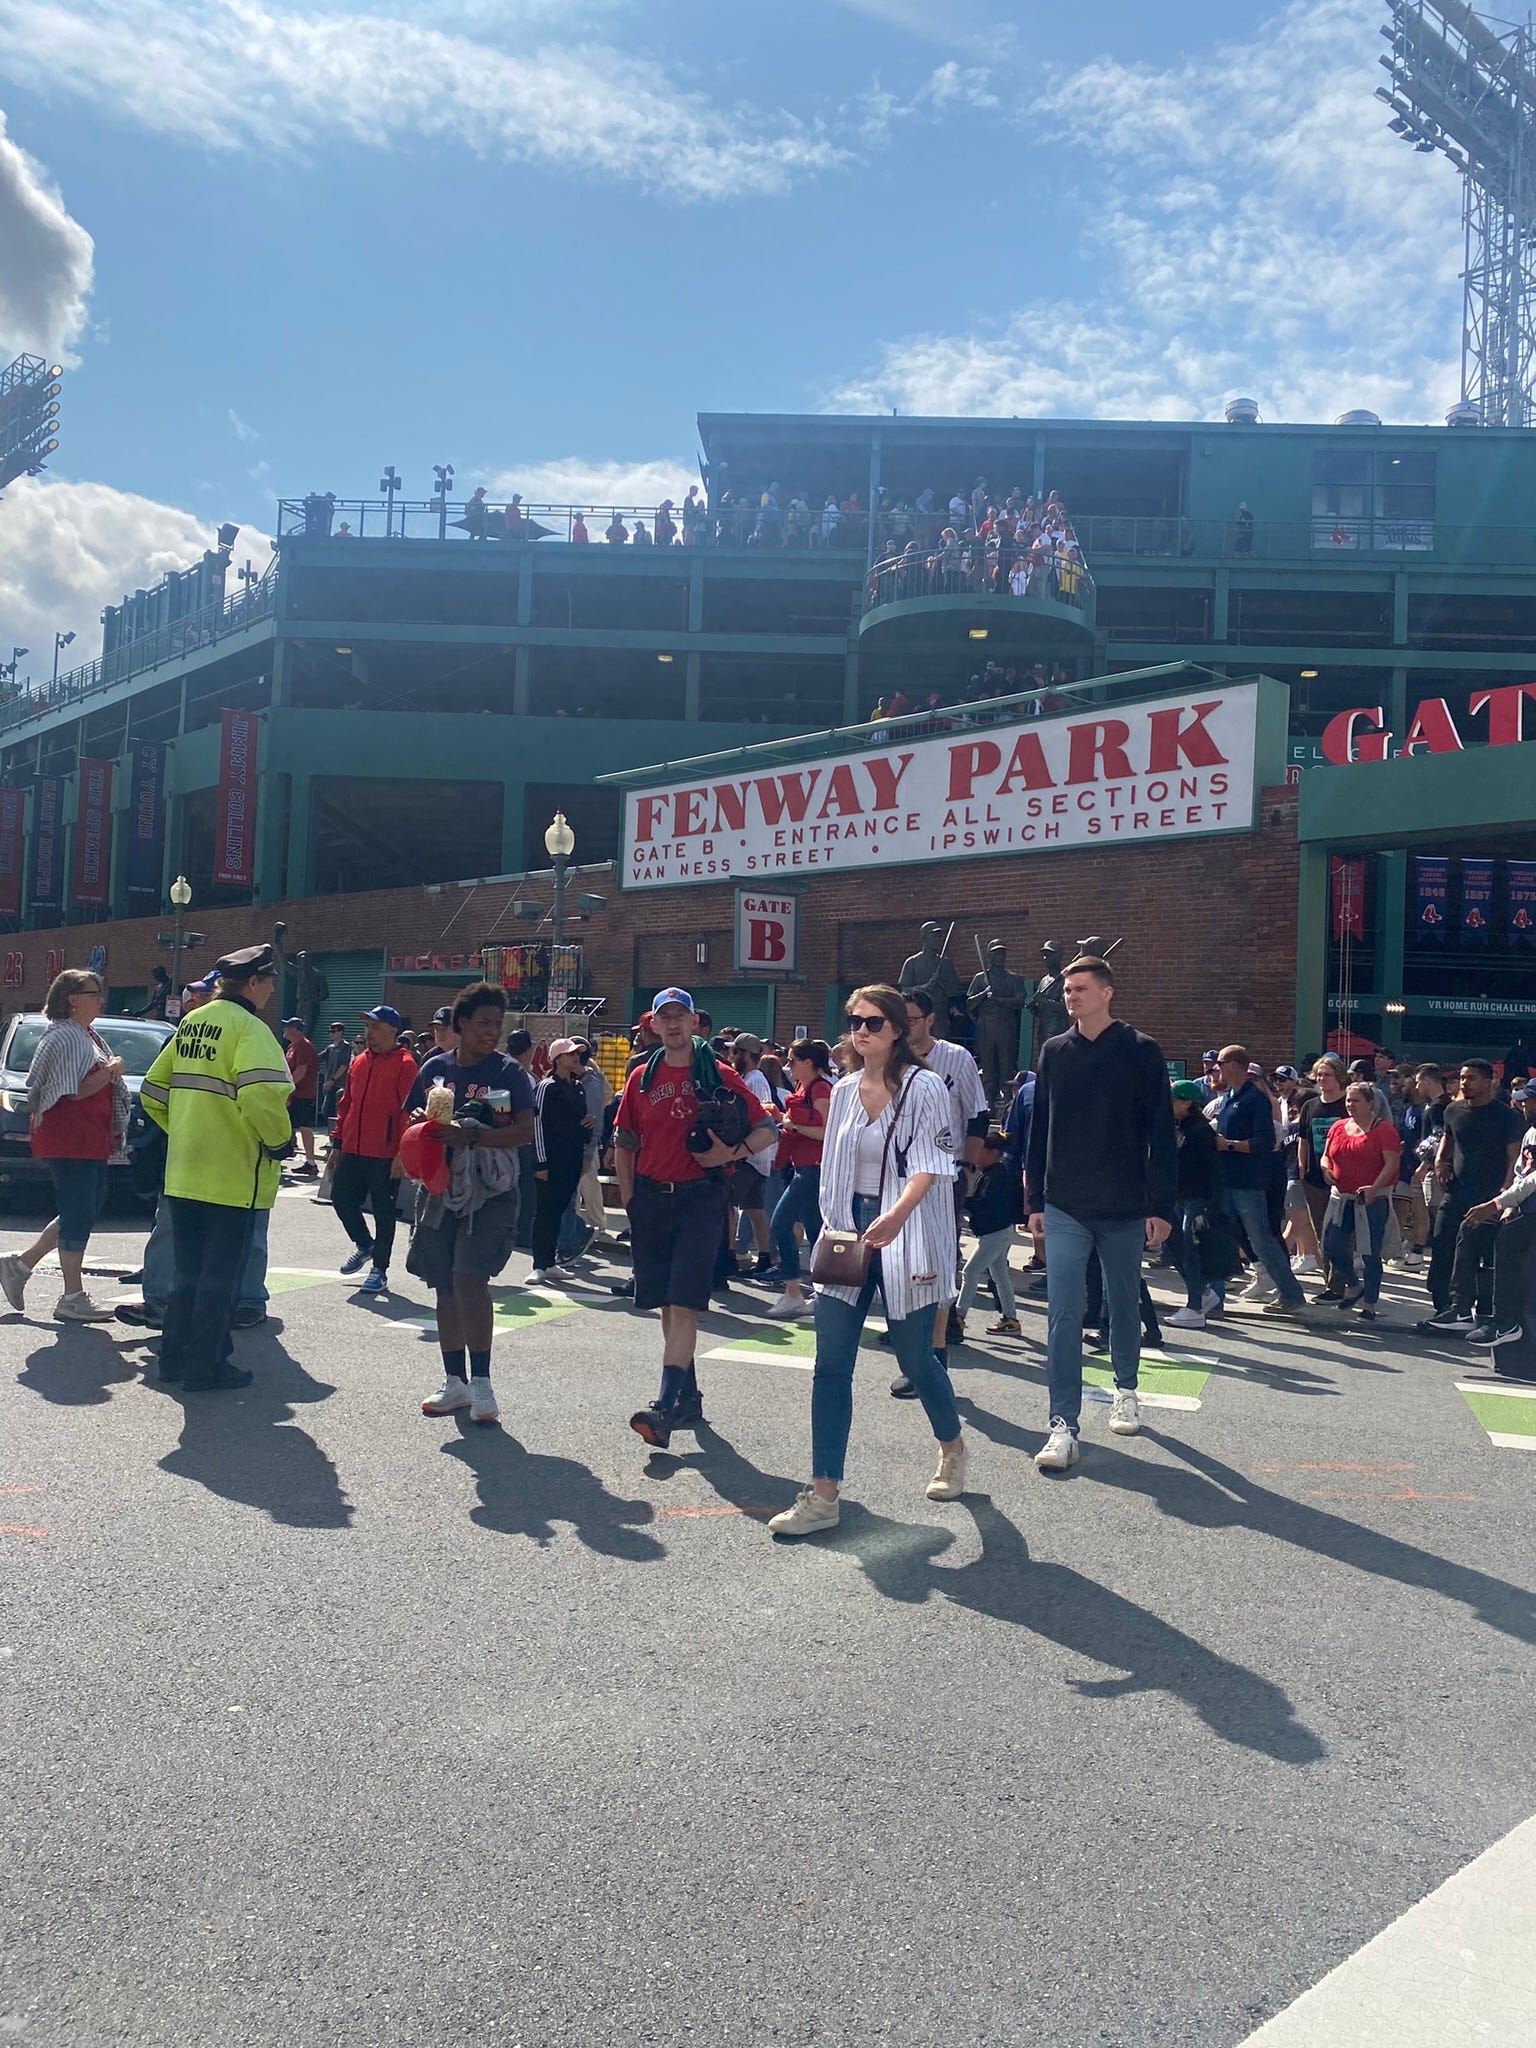
[[[1249,831],[1257,684],[635,788],[627,889]]]

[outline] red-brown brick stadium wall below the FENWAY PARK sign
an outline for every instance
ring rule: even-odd
[[[1255,1057],[1278,1061],[1296,1051],[1296,791],[1266,788],[1262,825],[1251,834],[1210,840],[1174,840],[1143,846],[1069,848],[1063,852],[1001,854],[985,860],[948,860],[897,868],[889,874],[817,874],[801,897],[803,983],[778,993],[776,1034],[782,1038],[803,1018],[819,1028],[829,985],[895,977],[918,948],[924,918],[954,920],[950,958],[963,979],[975,971],[973,934],[985,946],[1008,944],[1020,975],[1034,975],[1040,944],[1059,938],[1071,946],[1090,932],[1118,938],[1114,969],[1118,1012],[1151,1032],[1169,1057],[1198,1067],[1204,1047],[1225,1038],[1245,1040]],[[729,883],[625,895],[610,868],[573,870],[569,901],[580,889],[608,897],[608,909],[588,924],[573,924],[588,952],[588,985],[608,997],[604,1024],[623,1016],[631,987],[655,989],[670,981],[688,987],[696,938],[711,942],[711,985],[731,979]],[[549,901],[549,877],[471,889],[381,889],[360,895],[307,897],[272,903],[260,911],[193,905],[188,924],[207,932],[209,946],[186,958],[201,971],[233,946],[270,936],[272,922],[289,926],[295,952],[461,952],[485,938],[514,944],[528,926],[512,918],[516,897]],[[145,985],[150,969],[164,963],[156,932],[168,918],[121,924],[70,926],[59,932],[25,932],[0,946],[25,956],[20,991],[6,991],[6,1008],[35,1008],[45,987],[45,952],[63,950],[80,967],[94,944],[106,946],[106,975],[115,989]],[[549,936],[547,928],[543,936]],[[465,977],[469,979],[469,977]],[[418,1026],[442,999],[420,983],[385,981],[385,995]],[[717,1016],[717,1024],[731,1022]]]

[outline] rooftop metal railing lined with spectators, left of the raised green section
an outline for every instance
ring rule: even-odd
[[[575,541],[596,547],[725,547],[799,549],[862,555],[868,547],[868,514],[838,508],[811,510],[803,500],[782,500],[764,510],[758,504],[700,506],[698,516],[682,502],[662,506],[614,504],[518,504],[508,522],[506,504],[440,498],[283,498],[276,532],[309,541]],[[578,528],[578,520],[582,522]],[[659,522],[659,530],[657,530]],[[645,539],[641,539],[641,535]]]

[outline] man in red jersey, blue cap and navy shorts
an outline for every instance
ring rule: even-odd
[[[666,1450],[674,1430],[692,1430],[705,1419],[694,1339],[725,1231],[721,1167],[776,1145],[778,1130],[741,1075],[715,1059],[707,1038],[694,1036],[698,1016],[686,989],[662,989],[651,1004],[651,1024],[662,1049],[625,1081],[614,1118],[614,1171],[629,1210],[635,1307],[662,1311],[662,1391],[651,1407],[629,1417],[629,1427]],[[700,1098],[717,1090],[741,1098],[748,1137],[741,1145],[723,1145],[711,1133],[707,1151],[690,1151]]]

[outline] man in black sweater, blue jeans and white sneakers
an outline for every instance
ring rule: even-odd
[[[1077,1462],[1083,1409],[1083,1305],[1098,1251],[1110,1315],[1110,1430],[1141,1427],[1141,1253],[1174,1227],[1178,1145],[1167,1065],[1153,1038],[1110,1016],[1114,973],[1077,958],[1063,977],[1073,1028],[1040,1047],[1024,1184],[1030,1229],[1044,1229],[1051,1436],[1034,1462]]]

